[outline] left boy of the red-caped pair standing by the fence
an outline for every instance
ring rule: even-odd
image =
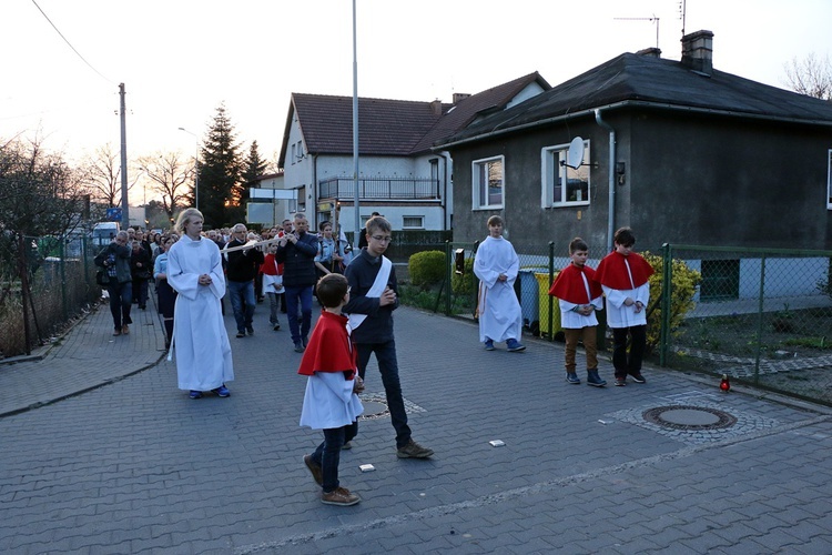
[[[586,265],[588,256],[587,243],[580,238],[572,239],[569,243],[569,258],[572,261],[555,279],[549,294],[557,296],[560,305],[560,325],[566,336],[566,381],[580,384],[580,379],[575,372],[575,352],[578,340],[584,340],[584,350],[587,353],[587,384],[603,387],[607,382],[598,375],[598,319],[595,315],[596,311],[603,310],[603,292],[601,285],[595,281],[595,270]]]

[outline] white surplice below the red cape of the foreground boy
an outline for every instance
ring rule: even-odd
[[[301,425],[312,430],[347,426],[364,412],[358,395],[353,393],[354,381],[343,372],[315,372],[306,381]]]

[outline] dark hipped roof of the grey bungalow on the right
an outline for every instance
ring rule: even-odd
[[[439,143],[465,141],[628,102],[832,124],[832,102],[718,70],[708,77],[691,71],[679,61],[623,53],[517,107],[446,137]]]

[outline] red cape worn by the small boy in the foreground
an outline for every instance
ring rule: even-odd
[[[315,372],[352,372],[347,380],[355,376],[356,357],[354,345],[346,332],[348,319],[341,314],[321,311],[321,319],[315,324],[310,343],[303,353],[298,374],[311,376]]]

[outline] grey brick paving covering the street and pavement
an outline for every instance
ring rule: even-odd
[[[569,385],[559,344],[489,353],[470,322],[410,309],[403,390],[436,456],[398,460],[389,418],[364,420],[341,465],[363,502],[323,505],[302,462],[321,436],[297,425],[300,355],[266,312],[232,334],[229,398],[176,390],[150,305],[129,337],[104,309],[43,360],[0,366],[0,552],[832,552],[826,408],[652,367],[646,385]],[[366,397],[383,398],[375,366]],[[697,403],[738,424],[640,420]]]

